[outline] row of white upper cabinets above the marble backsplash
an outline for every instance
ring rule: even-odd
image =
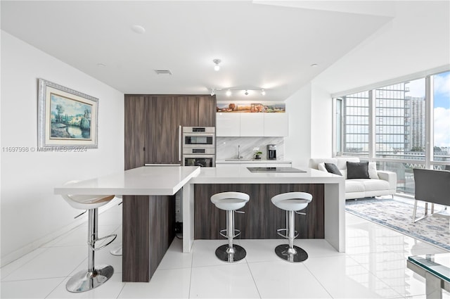
[[[216,113],[216,136],[285,137],[288,113]]]

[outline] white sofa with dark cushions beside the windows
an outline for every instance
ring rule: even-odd
[[[326,171],[323,163],[335,164],[345,177],[345,199],[364,198],[373,196],[394,195],[397,189],[397,174],[376,170],[375,162],[368,165],[370,179],[347,179],[347,161],[360,162],[359,158],[311,158],[309,167]]]

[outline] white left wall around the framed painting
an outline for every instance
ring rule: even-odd
[[[98,98],[98,149],[9,153],[37,147],[37,79]],[[124,169],[124,94],[1,31],[1,263],[73,224],[76,210],[53,188]]]

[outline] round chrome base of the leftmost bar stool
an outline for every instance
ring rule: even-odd
[[[114,274],[114,268],[108,265],[98,265],[94,272],[83,270],[70,277],[65,288],[72,293],[89,291],[97,286],[101,286]]]

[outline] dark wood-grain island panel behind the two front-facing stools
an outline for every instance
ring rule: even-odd
[[[226,227],[226,212],[211,203],[210,197],[219,192],[239,191],[248,193],[250,201],[235,214],[235,227],[240,238],[281,238],[276,229],[285,227],[285,211],[271,203],[271,197],[279,193],[302,191],[311,193],[313,201],[295,216],[298,238],[324,238],[324,185],[323,184],[195,184],[194,238],[221,239],[220,229]]]

